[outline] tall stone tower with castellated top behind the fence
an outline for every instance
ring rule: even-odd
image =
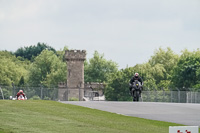
[[[84,61],[85,50],[66,50],[67,84],[59,84],[59,100],[68,101],[71,98],[83,100],[84,96]]]

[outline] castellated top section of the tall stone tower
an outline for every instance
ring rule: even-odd
[[[85,50],[66,50],[65,51],[65,59],[66,61],[77,60],[84,61],[86,59],[86,51]]]

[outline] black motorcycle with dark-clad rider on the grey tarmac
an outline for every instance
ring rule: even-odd
[[[133,96],[133,101],[139,101],[141,91],[142,91],[141,83],[138,80],[135,80],[135,82],[133,82],[133,87],[131,91]]]

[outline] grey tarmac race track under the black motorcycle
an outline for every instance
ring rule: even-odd
[[[155,102],[60,101],[66,104],[188,126],[200,126],[200,104]]]

